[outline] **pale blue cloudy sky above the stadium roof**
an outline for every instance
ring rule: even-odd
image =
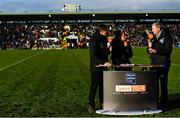
[[[0,0],[1,11],[61,10],[64,4],[80,4],[82,10],[166,10],[180,11],[180,0]]]

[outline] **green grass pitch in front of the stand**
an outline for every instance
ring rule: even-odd
[[[135,48],[132,63],[149,63],[145,48]],[[89,50],[0,51],[0,117],[88,117]],[[180,49],[169,72],[169,110],[145,116],[180,116]],[[179,65],[178,65],[179,64]],[[98,100],[97,100],[98,101]]]

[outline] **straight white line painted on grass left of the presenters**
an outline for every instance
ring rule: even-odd
[[[13,64],[11,64],[11,65],[5,66],[5,67],[3,67],[3,68],[0,69],[0,72],[3,71],[3,70],[5,70],[5,69],[7,69],[7,68],[10,68],[10,67],[12,67],[12,66],[15,66],[15,65],[17,65],[17,64],[19,64],[19,63],[21,63],[21,62],[23,62],[23,61],[29,60],[29,59],[31,59],[31,58],[33,58],[33,57],[35,57],[35,56],[37,56],[37,55],[39,55],[39,54],[41,54],[41,53],[42,53],[42,52],[39,52],[39,53],[37,53],[37,54],[34,54],[34,55],[32,55],[32,56],[29,56],[29,57],[26,57],[26,58],[24,58],[24,59],[22,59],[22,60],[19,60],[19,61],[15,62],[15,63],[13,63]]]

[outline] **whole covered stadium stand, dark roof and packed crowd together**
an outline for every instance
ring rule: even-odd
[[[180,47],[180,15],[159,14],[18,14],[0,15],[0,48],[67,49],[87,48],[89,37],[99,24],[106,24],[111,35],[124,30],[134,47],[147,45],[145,30],[161,21],[171,31],[174,46]],[[150,29],[149,29],[150,30]],[[47,39],[47,40],[42,40]],[[58,40],[51,40],[58,39]]]

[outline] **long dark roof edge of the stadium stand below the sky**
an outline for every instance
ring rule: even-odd
[[[63,12],[63,13],[23,13],[23,14],[0,14],[1,20],[88,20],[88,19],[139,19],[139,18],[154,18],[154,19],[180,19],[179,13],[131,13],[131,12]]]

